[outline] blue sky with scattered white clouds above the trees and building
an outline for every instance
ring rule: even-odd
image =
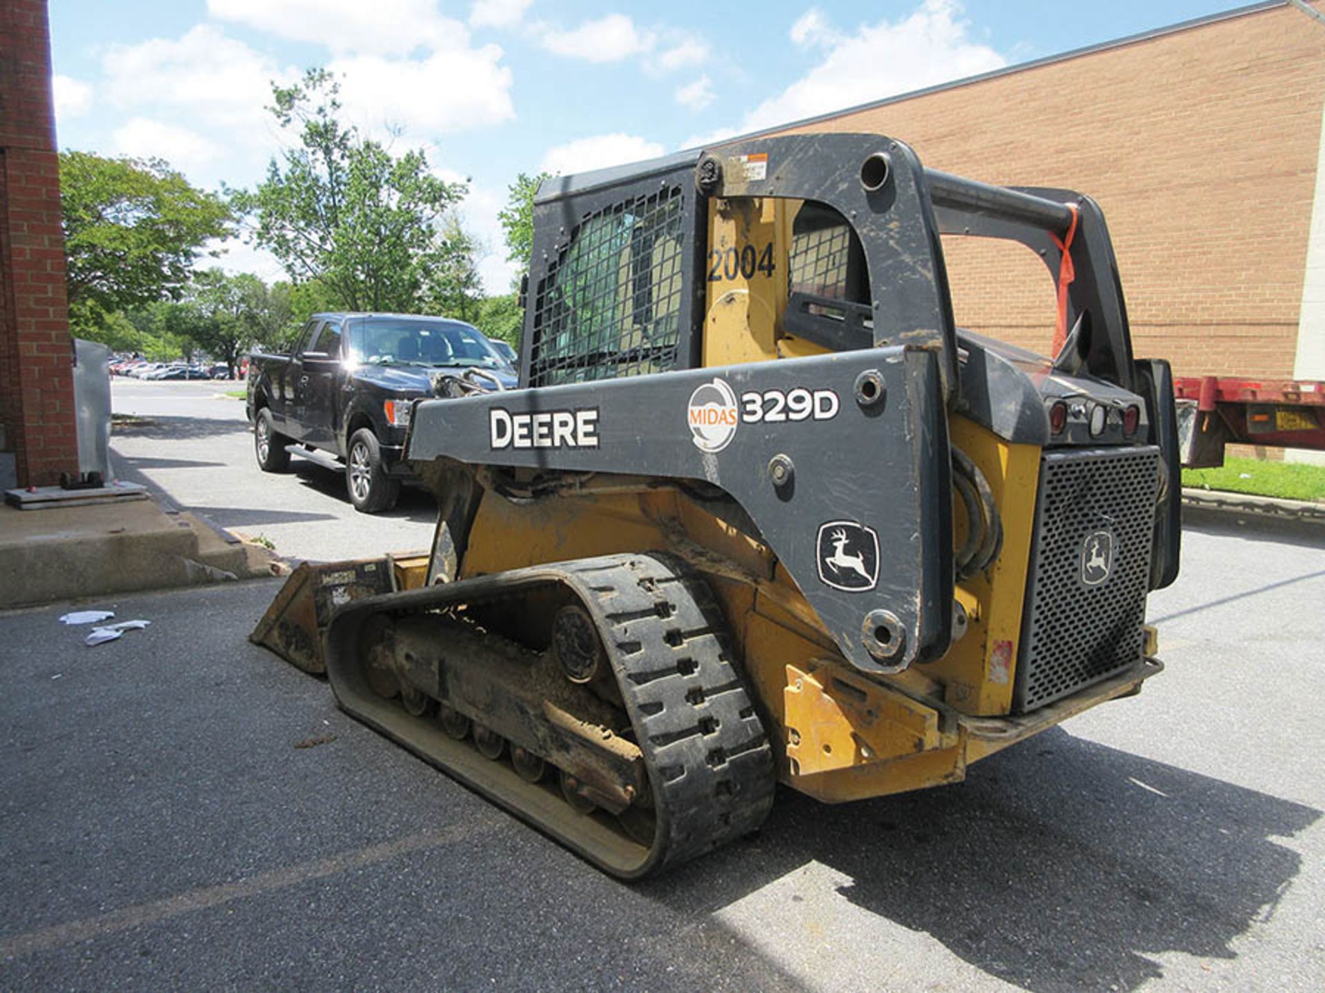
[[[469,179],[464,222],[510,269],[518,172],[661,155],[1242,4],[873,0],[50,0],[62,148],[155,155],[207,188],[256,183],[282,136],[270,81],[342,78],[347,117]],[[751,13],[754,11],[754,13]],[[898,135],[905,138],[905,135]],[[278,278],[233,242],[221,263]]]

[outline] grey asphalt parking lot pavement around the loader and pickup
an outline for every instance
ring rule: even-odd
[[[203,385],[117,381],[126,475],[297,557],[427,543],[423,494],[366,519],[311,467],[257,473]],[[95,649],[65,605],[4,618],[0,988],[1325,988],[1318,528],[1190,516],[1140,696],[959,785],[782,790],[757,837],[635,886],[249,645],[277,588],[125,597],[151,626]]]

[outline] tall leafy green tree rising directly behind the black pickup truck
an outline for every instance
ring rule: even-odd
[[[428,273],[445,262],[448,211],[462,183],[428,171],[421,151],[394,156],[339,118],[339,85],[325,69],[273,83],[269,109],[297,143],[266,180],[231,203],[256,218],[253,241],[298,285],[318,279],[348,310],[416,310]]]

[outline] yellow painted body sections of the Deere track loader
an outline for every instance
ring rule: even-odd
[[[714,200],[710,250],[739,253],[772,244],[791,249],[800,201]],[[624,275],[623,275],[624,279]],[[827,351],[782,334],[784,279],[761,273],[709,283],[702,356],[706,367],[799,357]],[[1105,681],[1064,704],[1010,718],[1022,605],[1035,518],[1040,449],[1014,445],[961,417],[953,444],[970,455],[1003,520],[1002,553],[961,581],[966,633],[939,659],[896,675],[867,678],[845,665],[815,610],[772,552],[712,516],[680,489],[615,478],[537,503],[484,493],[457,579],[612,552],[670,552],[708,580],[743,661],[770,733],[780,739],[787,785],[828,802],[898,793],[963,779],[966,765],[1072,714],[1134,692],[1158,670]],[[965,538],[961,502],[955,538]]]

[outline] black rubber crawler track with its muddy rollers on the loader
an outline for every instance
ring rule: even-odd
[[[327,675],[352,716],[635,879],[747,834],[772,802],[722,629],[678,563],[610,555],[352,601]]]

